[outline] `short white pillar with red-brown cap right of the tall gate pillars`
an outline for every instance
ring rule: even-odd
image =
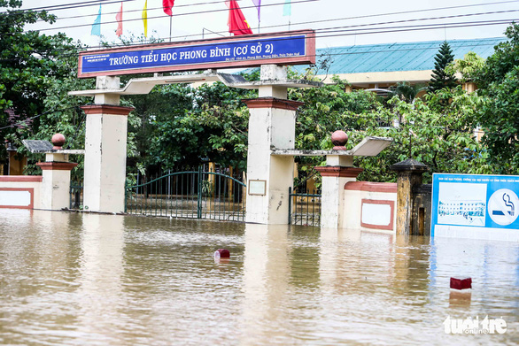
[[[328,155],[326,166],[314,167],[321,173],[321,227],[340,228],[343,225],[345,184],[356,181],[362,168],[352,166],[351,156]]]

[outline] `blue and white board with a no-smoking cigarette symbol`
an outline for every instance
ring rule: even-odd
[[[435,173],[432,236],[519,240],[519,176]]]

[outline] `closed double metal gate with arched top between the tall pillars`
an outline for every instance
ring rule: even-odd
[[[169,173],[126,188],[126,212],[170,218],[245,220],[242,181],[215,172]]]

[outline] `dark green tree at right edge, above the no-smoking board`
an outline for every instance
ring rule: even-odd
[[[474,81],[484,103],[478,120],[484,129],[483,142],[496,173],[519,173],[519,26],[513,23]]]

